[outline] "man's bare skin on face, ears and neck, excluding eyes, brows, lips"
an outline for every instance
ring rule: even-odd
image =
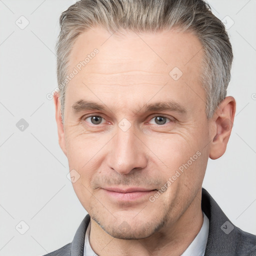
[[[95,28],[75,41],[70,66],[93,48],[98,48],[99,53],[66,87],[64,124],[59,95],[54,95],[59,144],[68,158],[69,169],[80,174],[72,185],[91,216],[90,244],[100,256],[168,255],[170,251],[174,256],[180,255],[202,225],[201,184],[207,160],[218,158],[225,151],[231,128],[222,128],[226,127],[223,120],[233,121],[235,101],[226,97],[220,110],[207,119],[205,102],[201,100],[205,99],[200,83],[201,44],[194,35],[175,30],[147,33],[150,47],[144,47],[144,42],[132,33],[118,40],[108,37],[104,29]],[[168,65],[151,48],[164,56]],[[131,65],[134,84],[125,75]],[[174,66],[183,73],[176,81],[169,76]],[[122,85],[116,85],[117,80],[123,81]],[[159,84],[166,85],[159,89]],[[72,105],[80,99],[108,109],[74,114]],[[168,100],[180,102],[187,114],[144,109],[134,114],[145,104]],[[89,114],[101,115],[105,122],[92,125],[82,119]],[[175,120],[157,125],[154,116],[161,114]],[[118,126],[123,118],[131,124],[126,131]],[[149,118],[153,123],[147,123]],[[135,185],[159,190],[197,151],[200,156],[154,202],[148,197],[116,201],[102,189]],[[120,228],[124,221],[129,227],[125,232]]]

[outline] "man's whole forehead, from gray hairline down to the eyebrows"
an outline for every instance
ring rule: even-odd
[[[75,40],[67,73],[74,69],[77,73],[67,84],[66,97],[71,101],[86,99],[93,88],[109,99],[118,93],[123,104],[131,95],[133,103],[136,99],[141,103],[167,84],[159,95],[176,97],[192,107],[198,104],[199,97],[204,98],[200,78],[202,56],[199,39],[189,32],[172,29],[111,34],[96,27]]]

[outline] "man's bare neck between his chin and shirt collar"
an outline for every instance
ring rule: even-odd
[[[201,210],[201,190],[192,203],[175,223],[166,223],[157,232],[142,239],[118,239],[106,233],[94,220],[89,242],[95,253],[105,255],[181,255],[193,241],[203,223]]]

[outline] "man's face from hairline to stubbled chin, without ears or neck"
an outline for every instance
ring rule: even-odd
[[[199,40],[175,30],[94,28],[76,39],[61,148],[80,175],[73,187],[81,204],[110,235],[147,237],[200,205],[210,141],[202,57]]]

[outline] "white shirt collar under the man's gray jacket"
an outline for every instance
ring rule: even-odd
[[[205,251],[205,247],[208,239],[208,232],[209,232],[209,219],[204,214],[204,212],[202,213],[203,213],[203,223],[200,231],[180,256],[193,256],[193,255],[204,256],[204,251]],[[98,256],[90,246],[89,233],[90,233],[90,222],[85,232],[83,256]]]

